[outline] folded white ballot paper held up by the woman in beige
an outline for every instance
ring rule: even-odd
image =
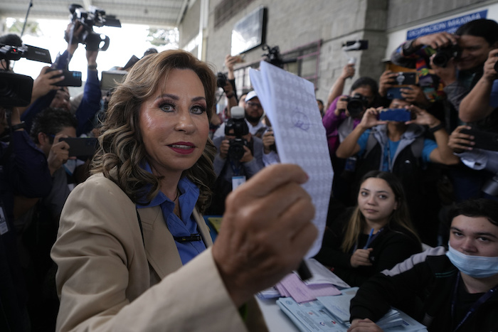
[[[303,188],[312,197],[313,223],[319,230],[306,255],[313,257],[322,246],[334,177],[314,85],[265,61],[260,70],[250,69],[249,75],[272,124],[280,161],[301,166],[309,176]]]

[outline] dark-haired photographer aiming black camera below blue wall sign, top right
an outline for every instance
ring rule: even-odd
[[[497,41],[498,23],[482,18],[465,23],[455,34],[433,33],[407,41],[391,55],[391,60],[403,67],[416,67],[420,82],[432,80],[428,90],[432,87],[439,94],[443,88],[453,107],[446,110],[447,127],[453,130],[459,124],[460,102],[480,80],[482,67]],[[427,73],[426,68],[432,68],[435,75],[422,75]]]

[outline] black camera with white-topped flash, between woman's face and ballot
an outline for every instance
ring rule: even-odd
[[[228,158],[233,161],[240,161],[245,154],[244,146],[249,146],[249,142],[243,136],[249,134],[248,124],[245,122],[245,111],[242,107],[231,108],[232,117],[225,123],[225,135],[235,136],[230,140],[228,148]]]

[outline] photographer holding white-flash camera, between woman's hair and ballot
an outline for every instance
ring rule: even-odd
[[[213,166],[217,178],[213,201],[206,214],[223,215],[226,196],[265,167],[263,141],[249,132],[243,117],[237,118],[235,113],[233,116],[225,123],[225,136],[213,139],[216,146]]]

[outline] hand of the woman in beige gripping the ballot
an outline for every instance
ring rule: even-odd
[[[297,269],[317,237],[306,181],[299,166],[272,165],[228,196],[213,258],[235,305]]]

